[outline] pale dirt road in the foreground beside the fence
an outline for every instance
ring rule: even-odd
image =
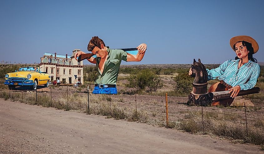
[[[0,99],[0,153],[263,153],[257,146]]]

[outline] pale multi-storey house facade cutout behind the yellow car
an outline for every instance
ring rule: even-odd
[[[51,82],[59,79],[62,85],[67,85],[74,84],[74,82],[76,83],[80,80],[81,84],[83,84],[83,62],[77,62],[74,58],[74,54],[78,51],[80,49],[73,50],[71,57],[67,54],[57,55],[57,53],[45,53],[40,58],[40,71],[47,72]]]

